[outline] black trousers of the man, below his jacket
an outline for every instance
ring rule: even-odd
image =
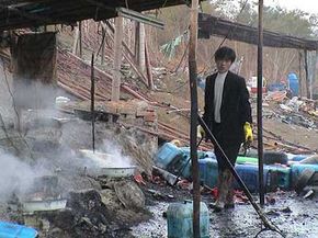
[[[220,128],[222,128],[220,124],[214,124],[213,134],[214,134],[217,143],[220,145],[223,151],[225,152],[225,155],[229,159],[230,163],[232,166],[235,166],[241,143],[239,140],[227,139],[227,135],[223,135]],[[223,152],[220,151],[220,149],[216,145],[214,145],[214,154],[215,154],[216,159],[217,159],[219,171],[224,171],[225,169],[230,168],[227,165],[226,158],[224,157]]]

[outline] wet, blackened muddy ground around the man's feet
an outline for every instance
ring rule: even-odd
[[[157,194],[154,194],[154,191]],[[154,217],[138,226],[133,227],[135,237],[164,238],[167,236],[167,219],[163,213],[169,204],[191,199],[186,190],[172,189],[161,185],[144,188],[147,195],[147,207]],[[158,195],[160,194],[160,195]],[[168,195],[173,195],[171,199]],[[266,194],[266,197],[275,197],[275,204],[265,204],[264,213],[285,235],[294,238],[318,237],[318,199],[305,200],[295,192],[276,192]],[[203,201],[208,205],[213,202],[212,195],[203,195]],[[257,195],[254,196],[258,201]],[[214,213],[209,208],[209,234],[214,238],[248,238],[255,237],[263,228],[261,219],[250,204],[236,204],[235,209]],[[273,231],[263,231],[258,237],[281,237]]]

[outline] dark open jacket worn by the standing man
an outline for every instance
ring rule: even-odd
[[[205,84],[205,105],[203,120],[214,133],[214,84],[217,73],[208,76]],[[218,126],[218,139],[241,143],[245,140],[243,124],[252,123],[251,105],[246,80],[228,71],[223,89],[220,105],[220,125]]]

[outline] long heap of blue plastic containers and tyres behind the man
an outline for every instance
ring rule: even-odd
[[[217,195],[217,160],[213,152],[197,150],[200,180],[203,189]],[[266,192],[295,190],[298,194],[314,196],[318,194],[317,155],[292,155],[280,151],[264,151],[264,188]],[[168,184],[181,188],[191,185],[191,157],[189,147],[178,147],[173,143],[164,144],[155,156],[154,174],[160,174]],[[249,150],[237,158],[236,171],[251,192],[259,190],[259,169],[255,150]],[[185,179],[185,180],[184,180]],[[190,181],[190,182],[186,182]],[[241,188],[237,182],[234,186]],[[305,194],[304,194],[305,192]],[[243,197],[237,192],[239,201]]]

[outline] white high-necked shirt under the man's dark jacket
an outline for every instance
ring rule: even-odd
[[[216,123],[220,123],[220,105],[225,78],[227,72],[218,72],[215,78],[214,84],[214,120]]]

